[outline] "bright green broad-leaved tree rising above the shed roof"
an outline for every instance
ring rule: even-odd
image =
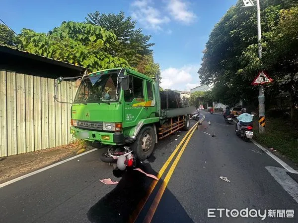
[[[21,50],[78,64],[89,71],[130,67],[124,58],[107,53],[115,34],[92,24],[63,22],[47,34],[22,29],[17,39]]]

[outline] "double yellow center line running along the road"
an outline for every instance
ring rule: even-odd
[[[156,196],[155,196],[155,198],[154,198],[154,200],[153,200],[153,202],[152,202],[152,204],[151,204],[151,206],[149,208],[149,211],[148,211],[148,213],[147,213],[147,215],[146,215],[146,217],[144,219],[144,222],[145,223],[151,222],[151,220],[153,218],[153,215],[154,215],[154,213],[156,211],[156,208],[157,208],[157,206],[159,204],[159,201],[160,201],[160,199],[162,197],[162,194],[163,194],[163,192],[164,192],[164,190],[165,190],[165,188],[166,188],[166,186],[167,186],[167,184],[168,184],[168,182],[169,182],[169,180],[170,180],[170,178],[171,178],[171,176],[172,176],[172,174],[173,174],[173,172],[174,172],[174,170],[175,170],[175,168],[176,168],[176,166],[177,166],[177,164],[178,164],[178,162],[179,162],[179,160],[180,160],[180,158],[181,158],[181,156],[182,156],[182,154],[183,154],[183,152],[184,152],[184,150],[185,150],[185,148],[186,148],[186,146],[187,146],[187,144],[188,144],[188,142],[190,140],[190,138],[192,137],[192,135],[193,135],[193,133],[194,133],[197,125],[199,124],[199,122],[202,122],[204,119],[205,119],[205,115],[203,114],[202,119],[200,121],[198,121],[187,132],[187,134],[183,137],[183,139],[178,144],[178,146],[176,147],[176,149],[174,150],[174,152],[171,154],[171,156],[165,162],[165,164],[163,165],[163,167],[161,167],[161,169],[159,170],[159,172],[158,172],[158,174],[156,176],[158,178],[158,180],[161,178],[161,176],[164,173],[165,169],[169,166],[169,164],[171,163],[172,159],[174,158],[174,156],[176,155],[176,153],[178,152],[178,150],[180,149],[180,147],[183,145],[182,146],[182,149],[180,150],[179,154],[177,155],[176,159],[174,160],[174,163],[172,164],[172,166],[170,167],[168,173],[166,174],[165,179],[162,182],[162,184],[161,184],[161,186],[160,186],[160,188],[159,188],[159,190],[158,190],[158,192],[157,192],[157,194],[156,194]],[[130,223],[134,223],[136,221],[136,219],[138,218],[139,214],[141,213],[142,209],[144,208],[144,206],[145,206],[145,204],[146,204],[146,202],[147,202],[150,194],[154,190],[154,188],[155,188],[155,186],[156,186],[157,183],[158,183],[157,180],[154,180],[151,183],[146,196],[140,201],[139,205],[137,206],[137,209],[131,215],[130,220],[129,220]]]

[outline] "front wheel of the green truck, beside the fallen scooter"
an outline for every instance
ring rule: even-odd
[[[131,149],[138,160],[144,161],[151,156],[155,146],[155,132],[152,126],[144,126],[137,139],[132,143]]]

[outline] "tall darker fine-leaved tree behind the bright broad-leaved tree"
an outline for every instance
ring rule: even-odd
[[[142,29],[136,29],[136,21],[125,17],[123,11],[118,14],[102,14],[98,11],[88,13],[86,22],[99,25],[108,31],[113,31],[119,44],[113,45],[114,56],[125,58],[133,67],[136,67],[144,56],[152,54],[149,43],[151,36],[144,35]]]

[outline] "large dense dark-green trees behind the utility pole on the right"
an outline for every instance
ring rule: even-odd
[[[284,92],[297,105],[298,2],[262,0],[262,50],[258,57],[255,7],[232,6],[214,27],[198,71],[202,84],[216,83],[217,100],[229,105],[246,100],[257,102],[258,90],[251,86],[258,70],[265,69],[275,83],[266,88],[266,97]],[[287,93],[283,89],[288,89]],[[268,105],[268,104],[267,104]]]

